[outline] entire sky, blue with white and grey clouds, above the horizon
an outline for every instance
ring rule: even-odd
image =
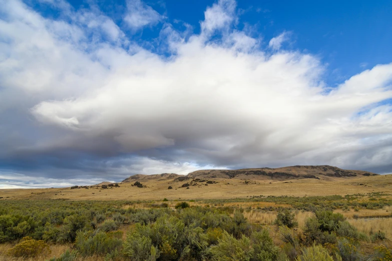
[[[392,1],[0,0],[0,188],[392,173]]]

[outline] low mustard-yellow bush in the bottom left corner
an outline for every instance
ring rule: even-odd
[[[50,254],[49,245],[43,240],[35,240],[30,236],[23,237],[14,247],[8,250],[8,254],[16,257],[36,257],[39,254]]]

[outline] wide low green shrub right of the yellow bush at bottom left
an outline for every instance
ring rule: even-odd
[[[119,238],[121,233],[98,232],[90,235],[89,232],[79,231],[75,240],[75,247],[83,256],[105,255],[120,250],[123,241]]]

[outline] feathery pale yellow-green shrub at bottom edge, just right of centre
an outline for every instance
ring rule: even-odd
[[[222,239],[218,240],[218,244],[210,247],[209,253],[213,260],[218,261],[250,260],[253,256],[253,248],[250,239],[245,235],[236,239],[225,231]]]

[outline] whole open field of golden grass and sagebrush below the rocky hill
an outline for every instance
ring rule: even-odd
[[[0,190],[0,261],[50,260],[65,254],[74,255],[64,259],[71,261],[287,261],[315,244],[333,260],[389,260],[392,254],[392,175],[209,177],[208,185],[207,179],[176,178],[142,177],[142,187],[106,182],[73,189]],[[286,220],[282,215],[292,215],[297,225],[276,223]],[[331,228],[323,228],[325,218]],[[189,236],[196,237],[187,241]],[[225,252],[227,240],[249,244],[238,245],[250,249],[243,248],[248,257]],[[26,242],[45,251],[18,256]],[[270,259],[257,257],[258,245],[267,247],[262,253]],[[351,255],[357,259],[346,259]]]

